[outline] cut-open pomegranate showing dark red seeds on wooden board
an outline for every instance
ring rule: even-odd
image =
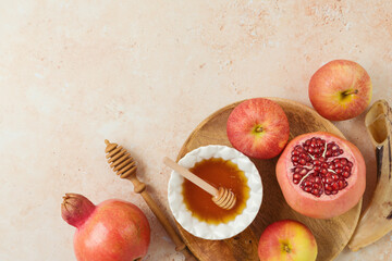
[[[364,158],[350,141],[329,133],[294,138],[277,164],[277,178],[289,206],[311,217],[343,214],[362,198]]]

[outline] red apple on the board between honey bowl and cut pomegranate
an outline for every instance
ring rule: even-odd
[[[241,102],[228,119],[226,132],[233,147],[246,156],[271,159],[289,140],[289,121],[275,102],[255,98]]]

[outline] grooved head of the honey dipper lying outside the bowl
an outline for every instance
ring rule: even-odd
[[[136,173],[136,162],[130,152],[117,144],[110,144],[107,139],[105,144],[107,145],[105,152],[107,153],[108,163],[120,177],[126,178]]]

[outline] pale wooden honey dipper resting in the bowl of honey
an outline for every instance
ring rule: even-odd
[[[212,195],[212,201],[220,208],[230,210],[235,206],[236,197],[233,191],[228,188],[219,187],[218,189],[207,182],[203,181],[192,172],[189,172],[186,167],[179,165],[168,157],[163,158],[163,163],[174,170],[176,173],[194,183],[201,189],[206,190],[210,195]]]

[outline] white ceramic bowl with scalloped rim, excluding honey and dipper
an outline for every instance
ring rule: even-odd
[[[197,148],[185,154],[184,158],[179,161],[179,164],[191,169],[195,163],[211,158],[232,161],[237,164],[238,169],[242,170],[247,177],[249,198],[241,214],[233,221],[219,225],[208,224],[194,217],[184,203],[182,194],[182,183],[184,178],[174,171],[171,173],[169,179],[168,197],[174,219],[185,231],[200,238],[219,240],[233,237],[250,225],[261,206],[262,184],[255,164],[240,151],[226,146],[210,145]]]

